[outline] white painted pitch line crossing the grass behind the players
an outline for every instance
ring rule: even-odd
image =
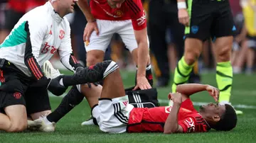
[[[48,95],[50,97],[61,97],[63,98],[67,93],[64,93],[63,95],[61,96],[54,96],[53,93],[50,93],[48,92]],[[159,99],[159,103],[169,103],[168,100],[163,100],[163,99]],[[208,103],[205,103],[205,102],[193,102],[193,105],[207,105]],[[256,106],[255,105],[242,105],[242,104],[238,104],[238,105],[233,105],[234,108],[243,108],[243,109],[256,109]]]

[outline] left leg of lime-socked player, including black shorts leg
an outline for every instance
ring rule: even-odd
[[[172,92],[176,92],[178,84],[184,84],[188,81],[193,65],[202,52],[203,41],[210,35],[212,13],[206,9],[205,5],[199,3],[198,1],[188,1],[190,24],[185,28],[184,54],[174,71]]]

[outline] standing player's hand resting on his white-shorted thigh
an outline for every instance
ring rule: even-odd
[[[90,35],[92,35],[93,31],[96,31],[96,34],[99,35],[99,29],[97,28],[97,22],[87,22],[84,30],[83,40],[85,41],[85,45],[89,45],[90,43]]]

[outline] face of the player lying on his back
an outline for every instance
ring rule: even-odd
[[[208,115],[223,115],[225,113],[225,105],[219,105],[214,103],[208,103],[208,105],[202,105],[200,107],[201,113],[207,113]]]

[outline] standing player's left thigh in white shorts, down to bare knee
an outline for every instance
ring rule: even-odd
[[[97,19],[100,35],[93,31],[90,36],[90,43],[85,44],[87,67],[103,61],[105,51],[114,33],[114,26],[109,26],[112,25],[110,22]]]

